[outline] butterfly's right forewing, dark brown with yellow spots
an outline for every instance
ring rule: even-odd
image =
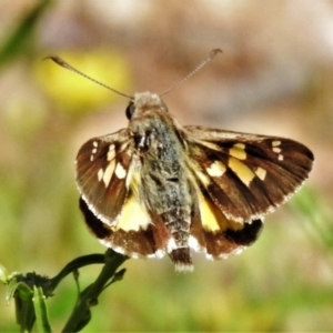
[[[236,222],[261,219],[307,178],[313,154],[290,139],[185,128],[189,167],[200,188]]]

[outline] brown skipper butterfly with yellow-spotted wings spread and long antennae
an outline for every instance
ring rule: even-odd
[[[251,245],[264,216],[303,184],[314,157],[290,139],[182,127],[161,95],[129,97],[128,128],[85,142],[75,180],[85,223],[102,244],[131,258],[168,254],[188,272],[191,250],[221,259]]]

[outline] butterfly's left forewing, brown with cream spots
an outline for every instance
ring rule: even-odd
[[[77,184],[88,208],[114,224],[128,195],[131,135],[127,129],[85,142],[77,157]]]

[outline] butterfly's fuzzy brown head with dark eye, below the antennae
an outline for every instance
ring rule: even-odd
[[[162,111],[168,112],[168,108],[157,93],[137,92],[130,101],[125,114],[129,120],[143,115],[147,112]]]

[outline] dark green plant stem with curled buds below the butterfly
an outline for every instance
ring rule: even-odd
[[[56,293],[56,289],[69,274],[73,274],[78,295],[72,313],[63,324],[62,332],[79,332],[91,320],[91,307],[98,304],[100,294],[108,286],[122,280],[125,270],[117,272],[128,258],[108,249],[105,254],[90,254],[69,262],[54,278],[42,276],[30,272],[27,274],[11,273],[1,268],[1,282],[8,285],[7,301],[14,299],[17,324],[20,332],[32,332],[33,326],[39,332],[51,332],[48,315],[47,299]],[[104,264],[100,274],[83,291],[80,289],[79,270],[91,264]]]

